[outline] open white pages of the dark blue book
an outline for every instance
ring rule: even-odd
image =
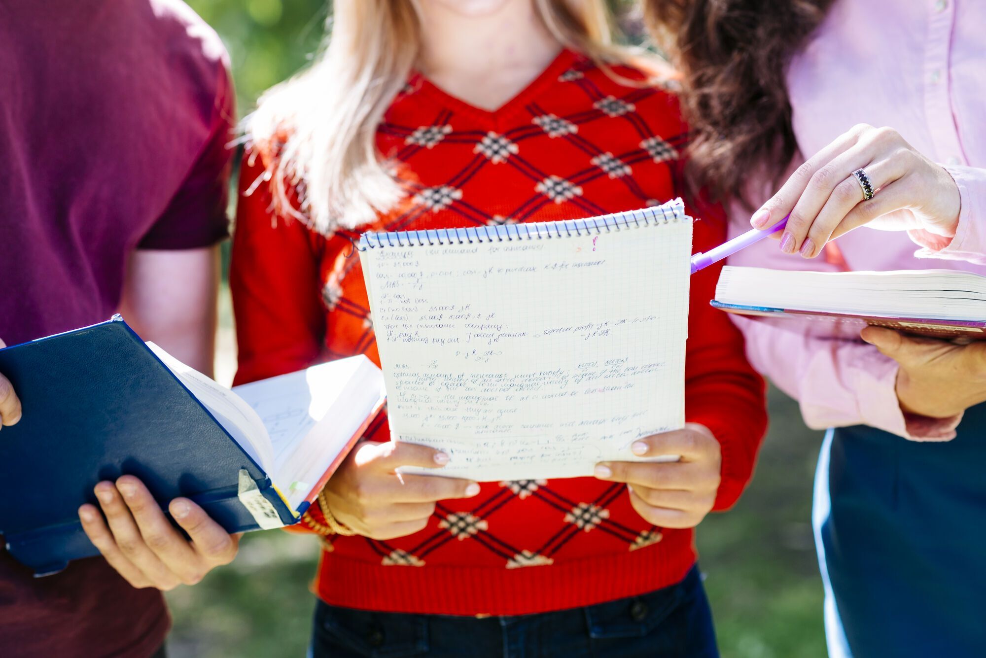
[[[292,509],[311,501],[384,399],[384,377],[363,356],[313,365],[233,390],[147,347],[263,469]]]

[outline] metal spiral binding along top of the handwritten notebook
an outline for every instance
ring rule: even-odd
[[[591,235],[613,230],[638,229],[687,220],[684,203],[674,199],[661,206],[591,217],[585,220],[537,222],[531,224],[502,224],[495,227],[468,229],[401,230],[363,233],[357,249],[380,249],[396,246],[448,246],[483,242],[512,242],[514,240],[548,239]]]

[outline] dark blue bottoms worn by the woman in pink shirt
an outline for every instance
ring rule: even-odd
[[[812,520],[833,658],[986,656],[986,404],[957,432],[825,435]]]

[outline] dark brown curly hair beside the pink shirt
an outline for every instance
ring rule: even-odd
[[[833,2],[644,0],[645,22],[682,76],[695,186],[748,205],[750,171],[779,182],[798,148],[787,66]]]

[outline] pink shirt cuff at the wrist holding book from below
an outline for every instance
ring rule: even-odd
[[[860,416],[864,422],[910,441],[949,441],[962,420],[958,414],[938,419],[905,414],[897,400],[897,372],[900,366],[887,359],[879,372],[870,372],[866,385],[859,386]],[[873,376],[876,375],[876,376]]]

